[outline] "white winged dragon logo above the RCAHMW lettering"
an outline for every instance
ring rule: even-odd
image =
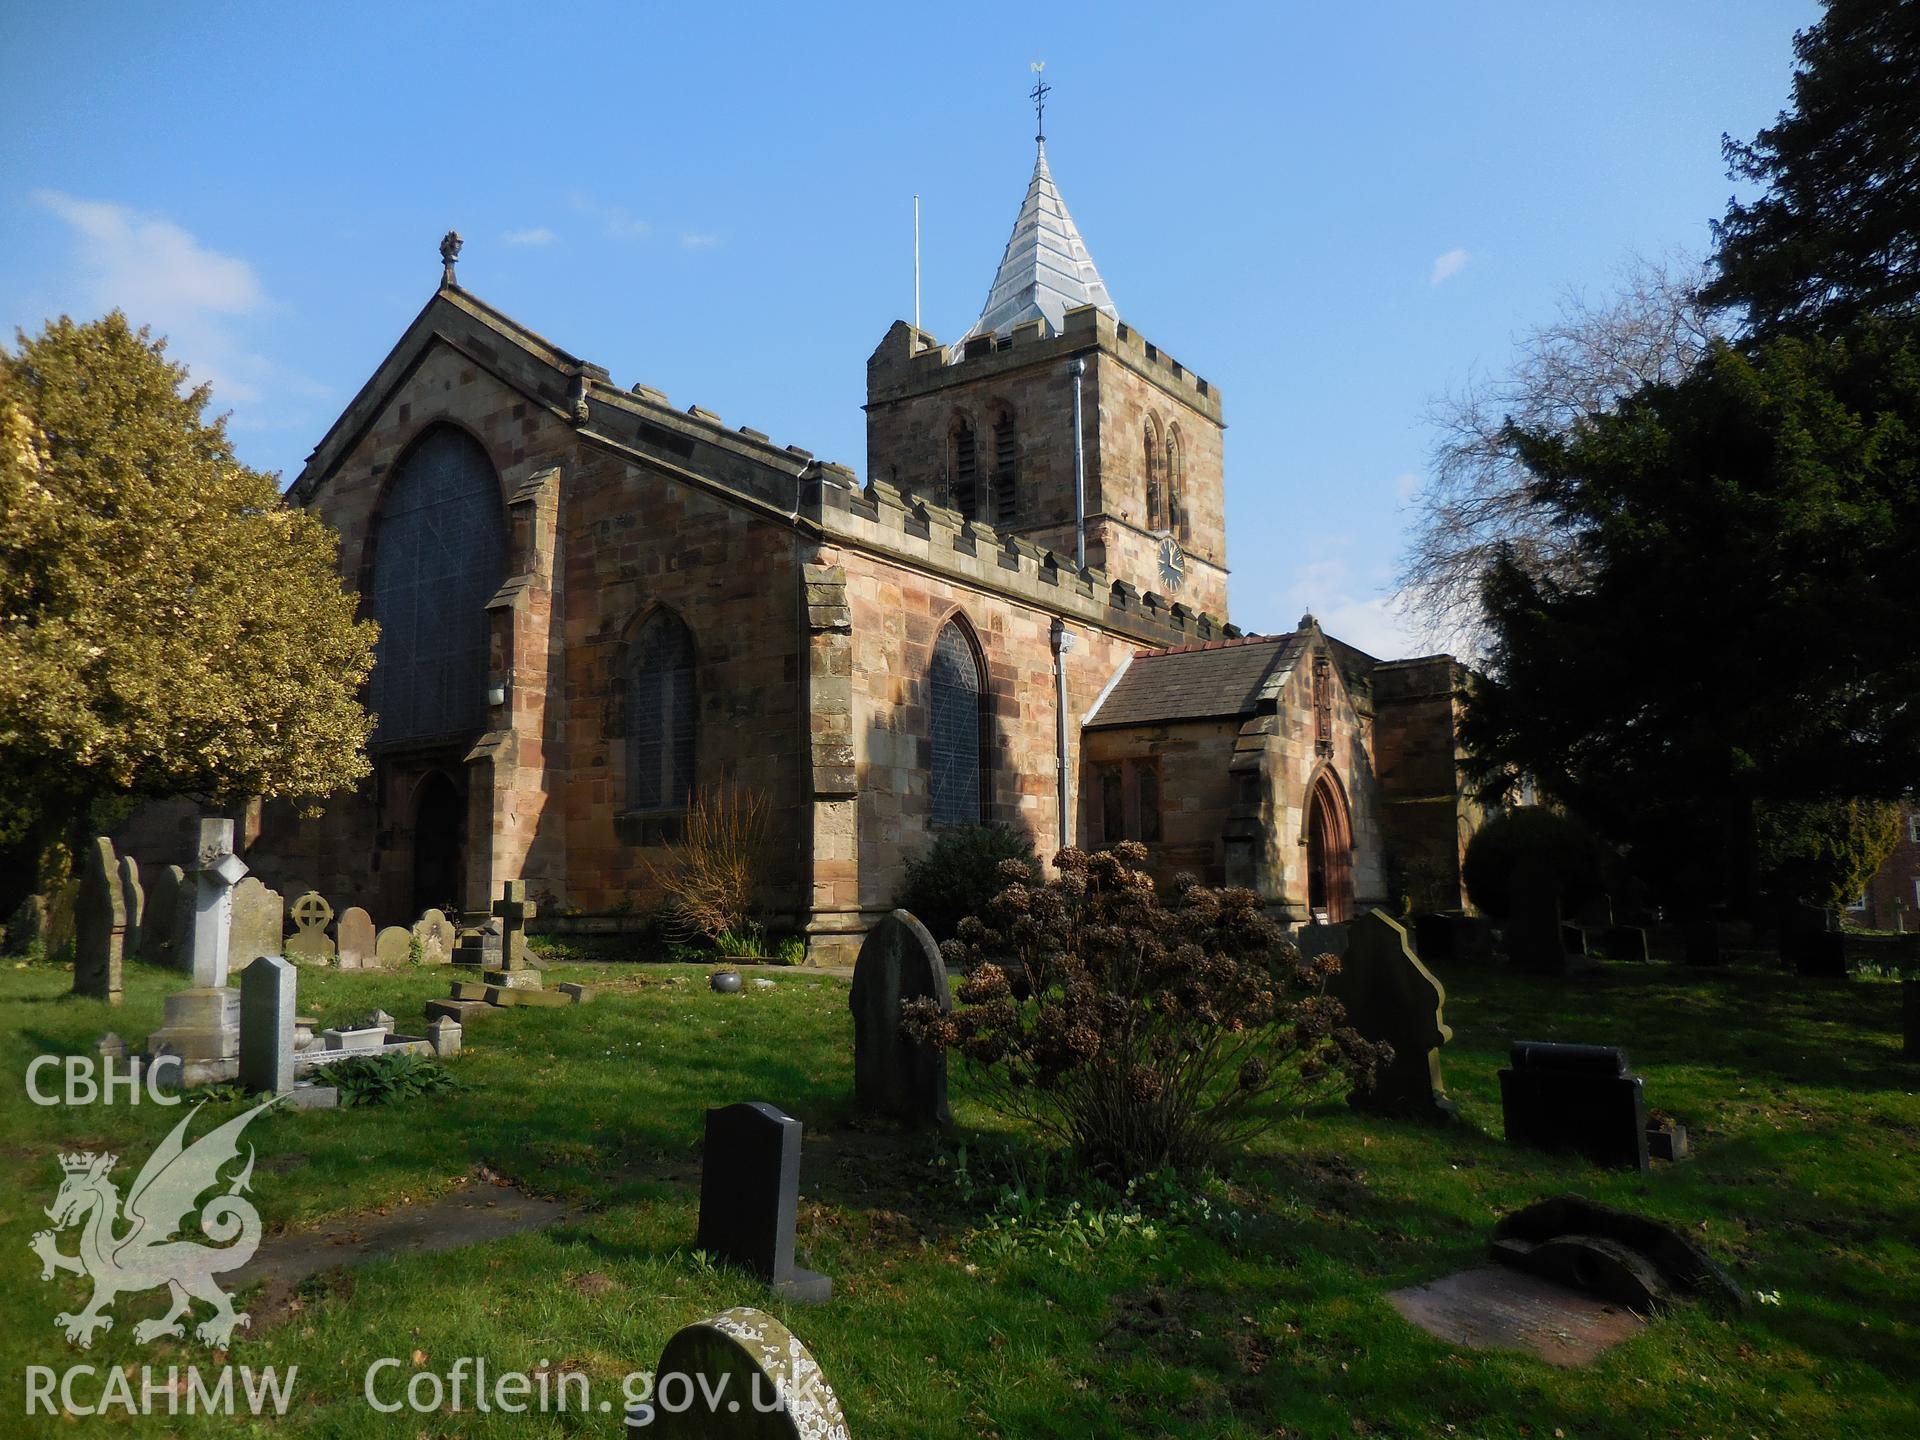
[[[213,1319],[194,1327],[194,1334],[209,1346],[225,1348],[232,1340],[236,1325],[248,1325],[250,1317],[234,1313],[232,1302],[213,1283],[215,1275],[240,1269],[259,1248],[259,1212],[253,1202],[242,1198],[253,1175],[253,1146],[246,1148],[246,1167],[234,1175],[225,1194],[217,1194],[200,1206],[200,1196],[221,1183],[221,1169],[240,1156],[240,1131],[261,1112],[271,1110],[273,1100],[253,1106],[244,1116],[228,1119],[215,1131],[207,1131],[192,1146],[184,1144],[186,1127],[194,1123],[194,1110],[173,1127],[159,1148],[134,1177],[127,1192],[125,1219],[132,1227],[115,1233],[121,1221],[121,1200],[117,1187],[108,1179],[119,1156],[96,1156],[92,1152],[61,1154],[60,1167],[67,1177],[60,1183],[60,1194],[46,1208],[46,1217],[54,1229],[40,1231],[29,1242],[29,1250],[40,1256],[40,1279],[54,1279],[56,1271],[90,1275],[94,1298],[79,1315],[65,1313],[54,1319],[67,1340],[83,1350],[94,1342],[94,1331],[111,1331],[113,1315],[108,1309],[119,1294],[154,1290],[165,1284],[173,1292],[173,1308],[161,1319],[140,1321],[132,1327],[134,1338],[142,1344],[171,1334],[184,1338],[186,1327],[180,1317],[194,1300],[213,1306]],[[213,1246],[198,1240],[173,1238],[186,1217],[200,1208],[200,1233],[213,1240]],[[54,1231],[84,1221],[81,1231],[81,1252],[63,1256],[54,1248]],[[236,1238],[238,1236],[238,1238]],[[232,1244],[228,1244],[232,1240]]]

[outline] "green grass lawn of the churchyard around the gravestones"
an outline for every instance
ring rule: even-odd
[[[288,1309],[257,1315],[232,1363],[300,1367],[284,1421],[75,1425],[17,1419],[29,1365],[211,1363],[202,1346],[134,1342],[134,1321],[163,1309],[157,1290],[123,1296],[115,1329],[73,1350],[54,1313],[77,1309],[86,1286],[42,1283],[27,1248],[60,1183],[58,1150],[123,1154],[125,1185],[184,1112],[36,1108],[25,1068],[90,1052],[109,1027],[144,1037],[180,981],[129,966],[127,1002],[109,1012],[71,998],[58,968],[0,970],[0,1156],[13,1177],[0,1198],[12,1388],[0,1415],[13,1425],[0,1430],[620,1434],[616,1413],[382,1415],[363,1377],[388,1356],[438,1373],[461,1356],[495,1371],[545,1361],[584,1371],[595,1404],[616,1402],[620,1377],[651,1367],[680,1325],[766,1304],[747,1277],[691,1254],[701,1112],[766,1098],[806,1123],[799,1244],[833,1277],[824,1308],[768,1308],[814,1350],[856,1440],[1920,1434],[1920,1066],[1899,1060],[1893,985],[1665,964],[1567,983],[1457,972],[1446,977],[1455,1039],[1444,1062],[1461,1125],[1367,1121],[1327,1104],[1236,1158],[1210,1190],[1213,1219],[1188,1208],[1089,1223],[1064,1202],[1029,1202],[1016,1221],[993,1212],[991,1194],[962,1198],[948,1179],[958,1139],[973,1177],[983,1150],[1020,1142],[972,1100],[964,1069],[956,1140],[852,1125],[845,979],[793,972],[739,996],[710,995],[705,972],[684,966],[559,964],[549,983],[559,979],[593,983],[599,998],[468,1025],[453,1062],[461,1091],[273,1114],[248,1137],[269,1236],[484,1187],[486,1175],[578,1204],[576,1221],[326,1273]],[[378,1006],[405,1027],[445,983],[445,970],[305,970],[300,1000],[323,1020]],[[1511,1039],[1624,1044],[1649,1102],[1692,1127],[1697,1160],[1642,1177],[1509,1150],[1494,1071]],[[1555,1371],[1455,1354],[1384,1300],[1480,1263],[1498,1213],[1563,1190],[1688,1227],[1778,1304],[1732,1319],[1665,1315],[1592,1369]],[[61,1244],[73,1248],[71,1233]],[[390,1380],[382,1398],[397,1390]]]

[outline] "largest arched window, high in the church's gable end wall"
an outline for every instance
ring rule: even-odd
[[[394,472],[374,532],[374,739],[451,739],[486,724],[486,603],[505,572],[493,463],[465,430],[434,426]]]

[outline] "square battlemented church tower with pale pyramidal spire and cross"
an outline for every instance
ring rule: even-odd
[[[1119,317],[1035,142],[973,326],[897,321],[868,359],[868,474],[1225,620],[1219,390]]]

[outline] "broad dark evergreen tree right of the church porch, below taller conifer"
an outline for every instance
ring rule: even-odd
[[[1920,781],[1920,324],[1715,344],[1676,384],[1517,432],[1578,549],[1501,557],[1471,776],[1532,778],[1668,895],[1757,883],[1759,803]]]

